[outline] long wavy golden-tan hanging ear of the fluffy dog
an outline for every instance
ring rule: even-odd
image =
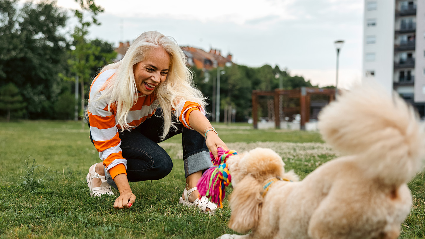
[[[238,183],[229,198],[232,210],[229,228],[239,233],[246,233],[257,226],[263,202],[260,193],[261,185],[250,175]]]

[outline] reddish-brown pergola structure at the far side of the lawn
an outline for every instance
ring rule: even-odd
[[[300,89],[295,90],[275,89],[274,91],[252,91],[252,119],[254,128],[258,128],[258,96],[273,96],[273,104],[275,111],[275,128],[280,128],[280,96],[286,96],[289,99],[299,98],[299,113],[301,115],[300,129],[305,130],[306,122],[309,122],[310,118],[310,99],[312,95],[317,94],[329,96],[329,102],[331,102],[335,98],[335,89],[301,87]]]

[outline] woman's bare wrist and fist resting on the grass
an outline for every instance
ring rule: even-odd
[[[113,208],[124,209],[130,208],[131,205],[136,201],[136,195],[131,191],[130,185],[126,174],[118,174],[113,179],[116,186],[118,187],[119,197],[113,203]]]

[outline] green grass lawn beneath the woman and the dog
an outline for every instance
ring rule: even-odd
[[[116,196],[91,198],[85,176],[99,158],[88,127],[83,126],[63,121],[0,122],[0,238],[215,238],[234,233],[227,228],[226,200],[224,210],[214,215],[178,204],[184,188],[181,137],[161,143],[173,158],[168,176],[130,182],[137,196],[130,209],[113,209]],[[214,127],[229,148],[275,149],[286,169],[294,169],[301,178],[336,156],[317,132],[253,130],[243,123]],[[49,168],[44,178],[42,172],[26,173],[27,162],[31,168],[33,159],[45,166],[35,174]],[[40,178],[43,181],[36,182]],[[409,187],[414,205],[400,237],[425,238],[424,174]]]

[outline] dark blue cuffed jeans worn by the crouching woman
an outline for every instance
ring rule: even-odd
[[[137,128],[119,133],[122,157],[127,159],[127,179],[130,182],[157,180],[167,176],[173,168],[173,161],[167,152],[158,145],[176,134],[182,134],[184,174],[189,176],[195,172],[212,166],[210,153],[205,145],[204,137],[194,130],[176,124],[178,130],[170,130],[167,137],[161,140],[164,117],[161,108],[146,119]],[[176,117],[173,116],[176,121]],[[89,122],[90,125],[90,122]],[[91,139],[91,134],[90,134]],[[91,139],[93,142],[93,139]],[[111,175],[105,171],[108,183],[116,188]]]

